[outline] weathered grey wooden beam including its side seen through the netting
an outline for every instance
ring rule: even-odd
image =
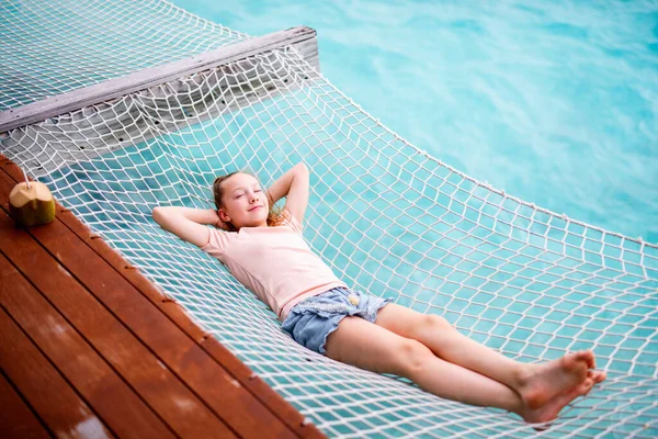
[[[318,76],[316,31],[274,32],[4,111],[0,153],[38,179],[297,90]]]

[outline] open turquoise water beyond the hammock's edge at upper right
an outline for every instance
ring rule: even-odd
[[[173,0],[251,34],[318,31],[324,75],[449,165],[658,243],[658,3]]]

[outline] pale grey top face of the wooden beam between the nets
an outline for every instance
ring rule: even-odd
[[[315,42],[315,38],[316,31],[297,26],[229,44],[205,54],[144,69],[121,78],[109,79],[83,89],[0,112],[0,133],[290,45],[298,45],[298,49],[308,53],[309,61],[316,63],[316,68],[319,68],[317,44],[300,44]]]

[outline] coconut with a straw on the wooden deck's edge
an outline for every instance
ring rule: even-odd
[[[9,213],[18,226],[47,224],[55,218],[55,200],[44,183],[19,183],[9,194]]]

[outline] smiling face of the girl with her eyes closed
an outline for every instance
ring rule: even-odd
[[[270,205],[259,181],[248,173],[236,173],[222,182],[224,195],[217,211],[219,219],[240,227],[268,225]]]

